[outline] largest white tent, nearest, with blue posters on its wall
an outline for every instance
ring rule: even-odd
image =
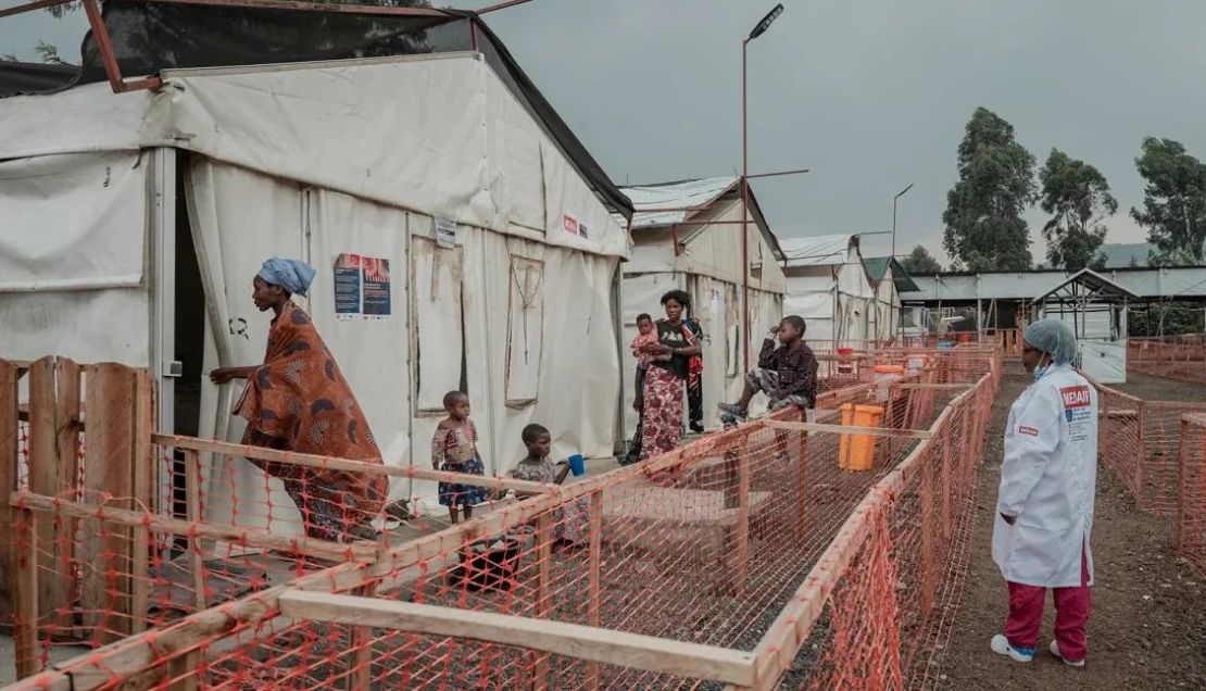
[[[480,54],[162,76],[0,100],[0,355],[151,367],[160,429],[238,439],[235,386],[201,373],[262,362],[251,280],[299,257],[387,463],[429,463],[440,399],[463,385],[490,474],[533,421],[558,456],[613,453],[628,241]],[[388,260],[385,281],[336,287],[345,254]],[[434,486],[391,487],[411,492]]]

